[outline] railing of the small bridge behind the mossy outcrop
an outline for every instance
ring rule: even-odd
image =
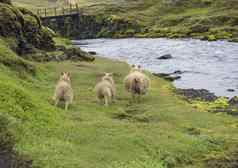
[[[40,17],[53,17],[64,16],[79,13],[78,4],[69,5],[67,7],[55,7],[55,8],[42,8],[36,10],[37,15]]]

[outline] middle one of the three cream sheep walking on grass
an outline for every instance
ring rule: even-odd
[[[96,85],[96,96],[99,102],[108,106],[109,103],[115,101],[116,87],[112,73],[105,73],[101,81]]]

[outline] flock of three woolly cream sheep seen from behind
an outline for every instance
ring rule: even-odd
[[[150,79],[141,69],[141,66],[132,65],[130,73],[124,79],[124,86],[127,92],[132,94],[133,99],[140,99],[141,95],[147,93],[150,86]],[[98,101],[105,106],[115,101],[116,86],[112,73],[105,73],[101,81],[95,87]],[[55,106],[59,101],[64,101],[65,110],[73,102],[73,89],[71,86],[70,74],[63,72],[55,88],[53,100]]]

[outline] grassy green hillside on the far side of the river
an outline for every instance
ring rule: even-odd
[[[21,5],[31,4],[26,3],[27,0],[15,2]],[[78,0],[78,2],[84,11],[91,15],[114,15],[137,21],[141,26],[141,31],[135,34],[137,37],[195,37],[211,41],[216,39],[236,41],[238,37],[236,0]],[[39,4],[39,1],[37,3]],[[44,3],[41,5],[49,6]],[[62,1],[54,5],[61,6]]]

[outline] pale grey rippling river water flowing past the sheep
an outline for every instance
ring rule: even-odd
[[[154,73],[180,70],[177,88],[207,89],[218,96],[238,95],[238,43],[194,39],[92,39],[74,41],[86,51],[130,64],[140,64]],[[158,57],[171,54],[172,59]],[[234,92],[227,91],[234,89]]]

